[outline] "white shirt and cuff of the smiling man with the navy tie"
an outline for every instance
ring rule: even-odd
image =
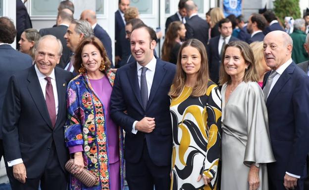
[[[141,88],[141,75],[142,75],[142,67],[138,62],[136,62],[137,65],[137,78],[139,81],[139,86]],[[156,66],[156,59],[153,57],[153,59],[145,66],[147,67],[146,71],[146,81],[147,81],[147,88],[148,88],[148,98],[150,95],[151,87],[153,85],[153,80],[154,80],[154,72],[155,72],[155,66]],[[138,121],[134,121],[133,126],[132,126],[132,133],[136,134],[137,130],[135,130],[135,125]]]

